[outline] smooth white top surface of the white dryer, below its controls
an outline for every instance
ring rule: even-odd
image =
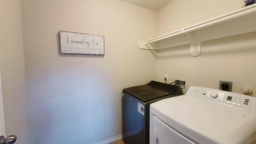
[[[245,144],[256,138],[256,114],[188,95],[150,105],[160,120],[198,143]]]

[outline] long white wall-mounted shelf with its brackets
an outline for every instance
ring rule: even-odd
[[[256,4],[176,30],[147,41],[138,41],[140,49],[160,50],[190,44],[190,54],[198,56],[201,42],[256,31]]]

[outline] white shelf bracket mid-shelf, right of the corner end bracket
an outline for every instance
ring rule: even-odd
[[[196,32],[190,33],[192,33],[192,36],[190,36],[189,32],[186,32],[190,41],[190,54],[192,56],[198,56],[201,52],[201,42],[196,42]]]

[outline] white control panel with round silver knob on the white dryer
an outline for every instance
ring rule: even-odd
[[[196,86],[190,86],[186,95],[256,113],[256,98],[252,96]]]

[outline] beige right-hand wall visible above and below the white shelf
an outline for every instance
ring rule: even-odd
[[[240,0],[174,0],[158,11],[158,36],[240,8]],[[158,50],[157,80],[164,82],[164,74],[168,82],[184,80],[184,92],[190,86],[219,89],[219,81],[224,80],[233,82],[232,92],[249,87],[256,96],[255,41],[255,32],[208,40],[195,57],[189,45]]]

